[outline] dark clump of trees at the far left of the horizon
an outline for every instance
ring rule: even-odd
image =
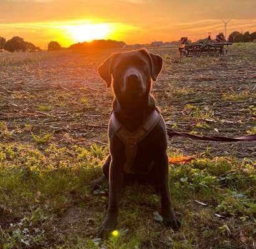
[[[41,49],[31,42],[26,42],[26,40],[19,36],[14,36],[7,41],[4,37],[0,36],[0,52],[2,52],[2,50],[9,52],[39,52]]]

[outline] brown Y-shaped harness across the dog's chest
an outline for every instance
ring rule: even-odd
[[[110,118],[110,125],[115,129],[115,132],[118,138],[125,144],[125,156],[126,162],[124,166],[124,171],[129,174],[135,174],[132,171],[131,167],[133,166],[133,162],[135,160],[135,156],[138,149],[138,143],[145,138],[150,131],[156,126],[160,118],[159,111],[154,110],[152,111],[151,115],[149,116],[148,120],[140,126],[140,128],[136,129],[136,131],[128,131],[124,128],[120,121],[117,120],[115,114],[111,113]]]

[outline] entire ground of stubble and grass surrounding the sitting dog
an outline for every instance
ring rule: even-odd
[[[164,58],[153,95],[177,131],[256,133],[256,47],[227,57]],[[0,54],[0,248],[256,248],[256,145],[174,137],[168,153],[179,232],[161,223],[153,189],[128,187],[118,236],[100,240],[107,185],[92,192],[108,153],[113,95],[97,75],[110,51]]]

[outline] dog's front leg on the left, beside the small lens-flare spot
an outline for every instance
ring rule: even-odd
[[[121,187],[123,186],[123,162],[122,160],[112,159],[110,163],[110,195],[108,199],[108,211],[99,235],[102,237],[105,232],[115,230],[118,216],[118,202],[120,199]]]

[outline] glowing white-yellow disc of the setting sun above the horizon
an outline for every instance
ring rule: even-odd
[[[90,42],[105,39],[111,32],[110,24],[80,24],[67,27],[67,32],[75,42]]]

